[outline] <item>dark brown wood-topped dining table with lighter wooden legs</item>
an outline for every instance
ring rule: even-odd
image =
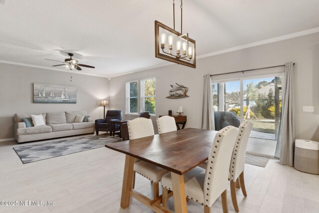
[[[183,175],[208,159],[217,132],[187,128],[105,145],[109,149],[126,155],[121,207],[128,208],[130,198],[133,197],[155,212],[171,212],[160,205],[162,195],[151,200],[133,189],[134,162],[135,159],[139,159],[170,172],[173,189],[168,197],[172,196],[173,193],[176,213],[187,213]]]

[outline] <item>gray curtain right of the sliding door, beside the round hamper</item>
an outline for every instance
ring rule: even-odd
[[[282,90],[282,115],[275,157],[280,158],[281,164],[293,167],[295,149],[294,63],[288,62],[285,65],[285,78]]]

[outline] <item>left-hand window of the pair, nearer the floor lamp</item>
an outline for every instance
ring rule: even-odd
[[[138,81],[126,82],[126,113],[138,114]]]

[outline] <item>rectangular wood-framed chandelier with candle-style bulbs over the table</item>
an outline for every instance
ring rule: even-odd
[[[175,0],[173,0],[173,25],[170,28],[155,21],[155,57],[184,66],[196,68],[195,40],[182,34],[183,1],[180,0],[180,32],[175,30]]]

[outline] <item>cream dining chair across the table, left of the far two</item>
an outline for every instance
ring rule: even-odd
[[[137,138],[144,138],[154,135],[154,127],[151,119],[147,118],[136,118],[132,121],[128,121],[128,130],[130,135],[130,140]],[[154,199],[159,197],[159,182],[163,175],[168,171],[164,170],[158,166],[150,164],[139,159],[135,159],[134,163],[134,178],[133,178],[133,188],[135,185],[135,175],[136,173],[144,176],[151,181],[154,189]]]

